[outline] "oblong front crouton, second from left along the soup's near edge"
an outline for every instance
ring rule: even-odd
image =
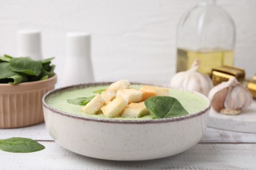
[[[125,101],[123,97],[116,97],[113,101],[110,101],[108,105],[102,107],[101,110],[107,118],[116,118],[122,114],[126,106],[127,101]]]

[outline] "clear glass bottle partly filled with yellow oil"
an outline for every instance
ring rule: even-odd
[[[199,71],[208,75],[213,67],[233,65],[235,24],[215,0],[200,0],[182,16],[177,29],[177,72],[189,69],[196,58]]]

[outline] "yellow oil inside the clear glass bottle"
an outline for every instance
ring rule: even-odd
[[[184,50],[177,49],[177,72],[190,69],[196,58],[200,59],[200,73],[210,74],[213,67],[221,67],[223,65],[233,65],[234,52],[232,50],[216,49],[206,50]]]

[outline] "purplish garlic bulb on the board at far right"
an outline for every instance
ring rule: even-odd
[[[249,90],[235,77],[212,88],[208,97],[213,109],[223,114],[240,114],[242,109],[249,107],[253,102]]]

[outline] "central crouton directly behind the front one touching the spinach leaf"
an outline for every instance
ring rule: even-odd
[[[142,92],[133,88],[121,89],[116,93],[116,97],[121,96],[127,103],[140,102],[142,99]]]

